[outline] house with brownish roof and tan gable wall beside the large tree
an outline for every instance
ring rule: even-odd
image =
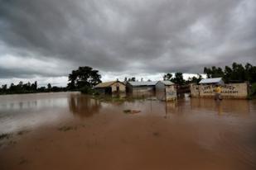
[[[125,84],[119,81],[99,83],[94,86],[94,89],[102,94],[126,92]]]

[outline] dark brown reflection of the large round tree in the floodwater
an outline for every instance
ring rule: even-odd
[[[70,112],[81,118],[93,116],[99,113],[100,102],[85,95],[71,94],[69,98]]]

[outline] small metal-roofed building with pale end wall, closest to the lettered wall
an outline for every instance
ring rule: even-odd
[[[176,100],[176,87],[171,81],[158,81],[156,84],[157,99],[162,101]]]

